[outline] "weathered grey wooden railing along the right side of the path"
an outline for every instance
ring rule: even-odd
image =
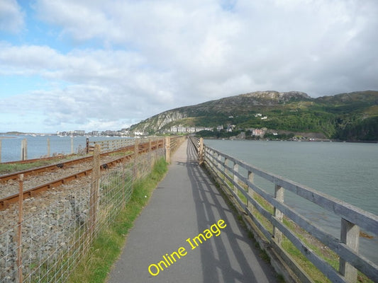
[[[232,156],[205,146],[203,139],[191,137],[199,154],[199,162],[226,188],[226,192],[246,214],[252,227],[257,228],[274,251],[286,262],[301,282],[313,282],[282,247],[282,239],[289,240],[331,282],[357,282],[357,270],[374,282],[378,282],[378,265],[359,253],[360,229],[378,236],[378,216],[330,197],[322,192],[305,187],[278,175],[267,173]],[[255,176],[274,185],[274,194],[255,184]],[[285,203],[284,190],[304,198],[321,209],[341,218],[340,239],[313,224]],[[267,205],[265,205],[267,204]],[[269,209],[272,208],[272,209]],[[263,216],[263,217],[261,217]],[[284,221],[289,219],[289,221]],[[269,225],[265,224],[269,221]],[[298,229],[316,238],[339,257],[338,270],[309,246]],[[270,226],[270,228],[267,228]],[[287,240],[286,240],[287,239]]]

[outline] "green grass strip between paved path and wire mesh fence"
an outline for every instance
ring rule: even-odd
[[[152,173],[135,181],[133,194],[126,208],[121,210],[113,224],[99,233],[87,256],[79,263],[67,282],[105,282],[111,266],[120,255],[126,235],[143,207],[148,203],[152,191],[167,172],[167,163],[160,158]],[[147,197],[145,197],[147,196]]]

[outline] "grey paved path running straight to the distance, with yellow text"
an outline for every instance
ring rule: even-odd
[[[258,253],[184,142],[130,230],[109,282],[277,282]]]

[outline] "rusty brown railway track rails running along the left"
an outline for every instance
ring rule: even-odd
[[[163,143],[162,140],[138,144],[138,154],[142,154],[142,153],[148,152],[150,150],[153,151],[153,150],[156,150],[156,149],[160,149],[160,148],[163,147],[163,144],[164,143]],[[130,160],[131,158],[133,158],[135,156],[135,152],[134,152],[135,146],[126,146],[126,147],[124,147],[122,149],[118,149],[116,151],[111,151],[111,152],[106,152],[106,153],[101,154],[101,158],[104,158],[105,156],[110,156],[111,154],[118,154],[118,153],[121,153],[121,152],[126,153],[128,151],[132,151],[133,153],[126,154],[126,155],[122,156],[121,158],[115,158],[111,161],[106,161],[106,163],[101,164],[100,169],[106,170],[108,168],[116,166],[116,164],[118,164],[118,163],[125,162],[126,160]],[[93,156],[85,156],[85,157],[82,157],[82,158],[77,158],[77,159],[65,161],[65,162],[62,162],[62,163],[55,163],[55,164],[52,164],[50,166],[43,166],[43,167],[39,167],[39,168],[29,169],[29,170],[26,170],[26,171],[18,171],[16,173],[1,175],[0,176],[0,183],[6,183],[9,180],[18,180],[18,177],[21,174],[23,175],[23,177],[26,177],[26,176],[30,176],[30,175],[38,175],[38,174],[44,173],[44,172],[56,171],[58,169],[64,170],[65,168],[73,166],[74,164],[84,163],[84,162],[88,163],[88,162],[91,162],[92,160],[93,160]],[[45,190],[49,190],[53,187],[58,187],[60,185],[69,183],[72,180],[82,178],[83,176],[89,175],[92,170],[93,170],[93,168],[88,168],[84,171],[79,171],[77,173],[67,175],[63,178],[59,178],[57,180],[52,180],[52,181],[49,181],[48,183],[43,183],[42,185],[32,187],[28,190],[24,190],[23,191],[23,199],[26,199],[28,197],[34,197],[35,195],[38,195],[38,193],[43,192]],[[9,204],[11,204],[11,203],[18,202],[18,197],[19,197],[19,193],[14,193],[12,195],[8,195],[4,198],[1,198],[0,199],[0,210],[6,209],[7,207],[9,207]]]

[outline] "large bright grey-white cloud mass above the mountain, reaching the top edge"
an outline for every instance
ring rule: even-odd
[[[66,37],[135,50],[151,69],[169,72],[174,91],[197,101],[264,88],[319,96],[329,86],[311,83],[320,66],[337,63],[334,75],[357,87],[340,72],[377,62],[372,50],[363,52],[372,45],[358,43],[374,41],[374,1],[45,0],[36,10]]]

